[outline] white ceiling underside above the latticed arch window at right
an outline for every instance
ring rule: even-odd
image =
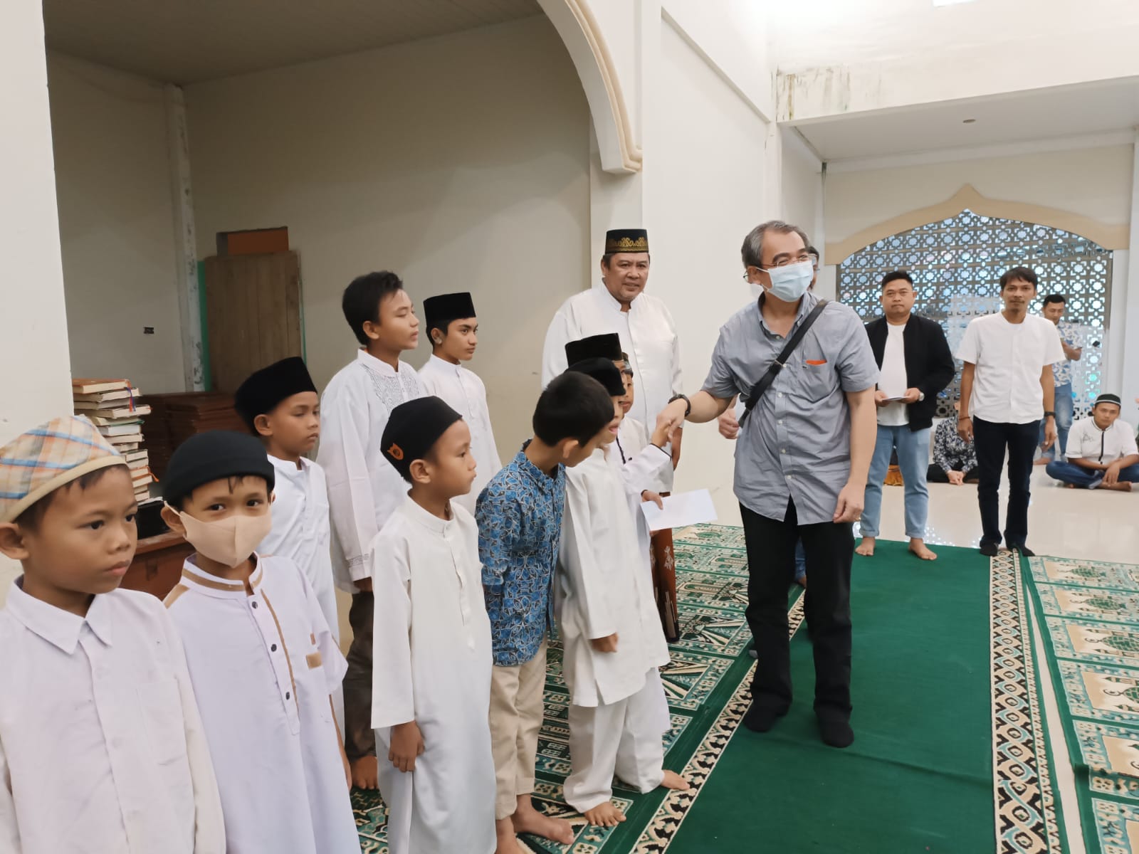
[[[1139,77],[789,124],[831,163],[1101,133],[1139,125]]]

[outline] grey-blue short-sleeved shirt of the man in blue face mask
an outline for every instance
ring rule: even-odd
[[[788,337],[819,298],[806,294]],[[759,301],[720,328],[704,391],[744,396],[787,342],[768,327]],[[787,367],[776,375],[736,442],[736,498],[753,512],[782,522],[794,498],[800,525],[830,522],[851,470],[847,392],[878,381],[878,363],[854,310],[830,303]]]

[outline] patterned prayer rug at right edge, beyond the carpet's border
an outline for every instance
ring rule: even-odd
[[[1139,854],[1139,566],[1029,566],[1087,849]]]

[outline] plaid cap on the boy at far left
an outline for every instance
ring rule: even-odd
[[[0,523],[83,475],[126,461],[89,420],[54,418],[0,447]]]

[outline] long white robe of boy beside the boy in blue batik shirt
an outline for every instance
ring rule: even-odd
[[[491,854],[491,624],[478,527],[451,502],[441,519],[404,499],[371,544],[376,592],[371,722],[391,854]],[[391,728],[415,721],[424,753],[387,761]]]

